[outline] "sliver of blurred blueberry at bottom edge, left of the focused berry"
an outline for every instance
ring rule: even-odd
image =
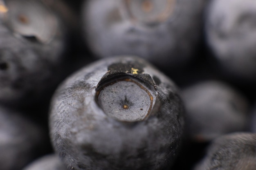
[[[66,168],[57,155],[49,154],[36,159],[22,170],[66,170]]]

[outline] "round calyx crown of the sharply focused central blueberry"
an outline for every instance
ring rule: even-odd
[[[96,103],[106,115],[126,122],[145,120],[156,99],[153,79],[140,67],[109,70],[99,81],[95,95]]]

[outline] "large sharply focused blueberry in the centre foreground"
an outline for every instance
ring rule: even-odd
[[[183,134],[175,84],[138,57],[85,66],[56,90],[50,109],[52,145],[75,170],[162,170]]]

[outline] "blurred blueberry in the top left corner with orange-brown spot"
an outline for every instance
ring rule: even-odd
[[[67,29],[61,16],[44,3],[0,1],[1,103],[37,101],[64,76]]]

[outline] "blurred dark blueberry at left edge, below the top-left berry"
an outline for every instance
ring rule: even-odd
[[[47,139],[20,111],[0,106],[0,170],[20,170],[45,152]]]

